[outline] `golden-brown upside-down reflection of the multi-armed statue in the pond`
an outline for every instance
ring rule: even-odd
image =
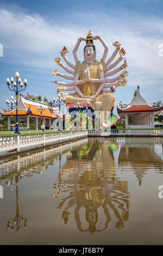
[[[74,219],[82,232],[90,231],[94,236],[108,229],[115,217],[115,228],[124,228],[129,218],[130,196],[128,182],[116,176],[113,151],[117,148],[116,143],[106,139],[89,139],[88,144],[67,155],[52,195],[53,198],[61,196],[58,209],[62,209],[65,224],[71,218],[71,208],[75,207]],[[85,217],[81,217],[83,207]],[[85,218],[86,229],[82,228]],[[97,229],[97,224],[103,227]]]

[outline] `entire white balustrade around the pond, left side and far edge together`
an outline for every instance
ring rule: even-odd
[[[62,132],[34,132],[34,133],[15,133],[0,134],[0,155],[9,152],[20,152],[32,148],[42,147],[49,144],[57,144],[85,136],[101,136],[101,137],[128,137],[128,136],[162,136],[162,129],[106,129],[99,131],[62,131]]]

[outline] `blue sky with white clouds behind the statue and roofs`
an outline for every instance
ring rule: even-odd
[[[89,29],[107,42],[108,57],[116,40],[127,52],[128,84],[117,88],[116,105],[120,101],[129,103],[137,84],[148,102],[163,101],[163,57],[158,54],[159,44],[163,44],[162,11],[162,0],[0,0],[0,44],[4,47],[0,57],[0,108],[12,95],[5,80],[16,71],[22,80],[28,80],[25,94],[41,94],[53,100],[57,94],[51,70],[65,73],[54,58],[66,46],[70,50],[67,57],[74,63],[73,47]],[[103,47],[97,41],[95,45],[99,60]],[[84,42],[78,51],[81,61],[83,47]]]

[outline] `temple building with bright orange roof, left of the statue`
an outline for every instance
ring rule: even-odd
[[[46,102],[43,99],[41,101],[31,99],[31,96],[25,96],[20,94],[19,101],[17,103],[18,108],[18,125],[20,130],[27,130],[30,126],[30,120],[33,120],[33,127],[31,129],[38,130],[38,120],[41,119],[41,113],[39,112],[39,107],[42,106],[42,121],[45,124],[45,129],[56,129],[56,121],[59,117],[58,108]],[[11,123],[11,110],[3,109],[1,110],[2,117],[8,117],[8,130],[10,130]],[[16,117],[16,108],[12,110],[12,117]],[[22,119],[27,119],[27,127],[22,126]],[[54,122],[55,121],[55,122]],[[54,127],[55,126],[55,127]]]

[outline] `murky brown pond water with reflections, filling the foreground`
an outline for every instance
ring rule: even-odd
[[[0,159],[1,245],[162,244],[162,142],[85,138]]]

